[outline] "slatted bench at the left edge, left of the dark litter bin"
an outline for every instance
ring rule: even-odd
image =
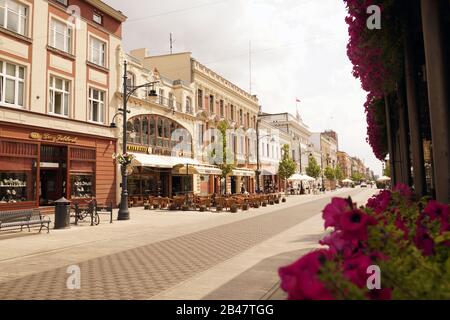
[[[41,212],[37,209],[18,210],[18,211],[0,211],[0,230],[4,228],[18,228],[20,231],[23,227],[40,225],[39,233],[42,228],[47,228],[47,233],[50,232],[50,219],[44,218]]]

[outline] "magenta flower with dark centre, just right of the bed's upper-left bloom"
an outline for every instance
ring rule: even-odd
[[[375,225],[376,220],[359,209],[345,212],[339,223],[344,231],[344,239],[367,240],[367,227]]]

